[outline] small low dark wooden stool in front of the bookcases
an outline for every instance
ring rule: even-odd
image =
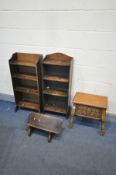
[[[34,128],[43,130],[48,132],[48,142],[51,142],[54,134],[60,134],[62,132],[62,124],[63,120],[61,119],[32,112],[28,120],[28,135],[31,135]]]

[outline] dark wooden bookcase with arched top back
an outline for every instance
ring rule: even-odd
[[[43,110],[68,115],[73,58],[62,53],[43,61]]]

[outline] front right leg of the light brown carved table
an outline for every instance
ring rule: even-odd
[[[106,111],[102,110],[101,128],[100,128],[100,135],[101,136],[104,136],[104,134],[105,134],[105,118],[106,118]]]

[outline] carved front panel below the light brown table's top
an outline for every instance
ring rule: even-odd
[[[77,105],[76,113],[79,116],[93,118],[93,119],[101,119],[101,109],[85,106],[85,105]]]

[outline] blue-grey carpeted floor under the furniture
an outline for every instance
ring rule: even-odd
[[[0,101],[0,175],[116,175],[116,123],[76,119],[49,144],[45,133],[27,136],[29,111],[14,112],[14,103]]]

